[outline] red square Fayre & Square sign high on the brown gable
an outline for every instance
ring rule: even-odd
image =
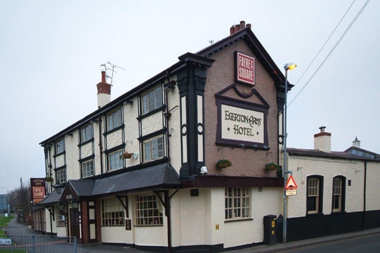
[[[255,58],[235,51],[235,82],[255,85]]]

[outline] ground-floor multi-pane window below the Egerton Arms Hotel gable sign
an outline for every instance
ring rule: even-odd
[[[225,188],[225,219],[249,217],[249,188]]]

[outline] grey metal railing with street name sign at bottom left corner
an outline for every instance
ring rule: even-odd
[[[9,240],[10,239],[10,240]],[[74,236],[0,235],[0,252],[76,253]]]

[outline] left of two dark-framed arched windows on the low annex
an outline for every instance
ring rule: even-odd
[[[313,175],[307,177],[307,214],[322,213],[323,177]]]

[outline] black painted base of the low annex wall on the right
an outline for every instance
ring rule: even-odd
[[[380,210],[288,218],[287,242],[379,227]],[[277,241],[282,242],[282,233],[277,234]]]

